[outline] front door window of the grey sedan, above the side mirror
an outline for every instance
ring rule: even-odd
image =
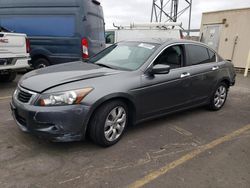
[[[182,66],[183,57],[183,48],[181,45],[171,46],[157,57],[154,64],[166,64],[171,69],[175,69]]]

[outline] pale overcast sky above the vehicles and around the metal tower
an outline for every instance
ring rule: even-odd
[[[113,23],[149,22],[152,0],[100,0],[104,10],[106,28],[113,28]],[[159,1],[159,0],[158,0]],[[166,0],[167,2],[167,0]],[[179,0],[179,10],[187,4]],[[202,12],[250,7],[250,0],[193,0],[191,28],[200,28]],[[188,12],[180,19],[187,27]]]

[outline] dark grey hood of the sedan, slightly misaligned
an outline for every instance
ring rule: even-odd
[[[25,89],[41,93],[62,84],[109,76],[120,72],[122,71],[80,61],[31,71],[21,78],[19,85]]]

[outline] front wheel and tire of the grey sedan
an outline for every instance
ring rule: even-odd
[[[102,105],[90,122],[90,138],[98,145],[109,147],[122,137],[128,124],[128,108],[122,101]]]

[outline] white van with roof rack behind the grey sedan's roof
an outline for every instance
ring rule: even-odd
[[[115,26],[115,25],[114,25]],[[106,30],[106,46],[124,40],[145,38],[183,38],[180,23],[132,23],[129,26],[115,26],[117,29]]]

